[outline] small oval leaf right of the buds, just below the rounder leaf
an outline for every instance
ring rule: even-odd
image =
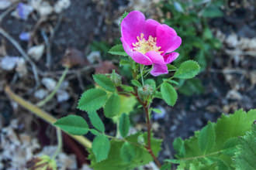
[[[161,96],[163,97],[164,101],[170,106],[174,106],[178,98],[175,88],[172,87],[169,83],[161,84]]]

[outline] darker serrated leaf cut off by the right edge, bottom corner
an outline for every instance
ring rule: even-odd
[[[252,124],[251,131],[247,131],[240,138],[238,151],[234,156],[234,165],[237,170],[256,169],[256,124]]]

